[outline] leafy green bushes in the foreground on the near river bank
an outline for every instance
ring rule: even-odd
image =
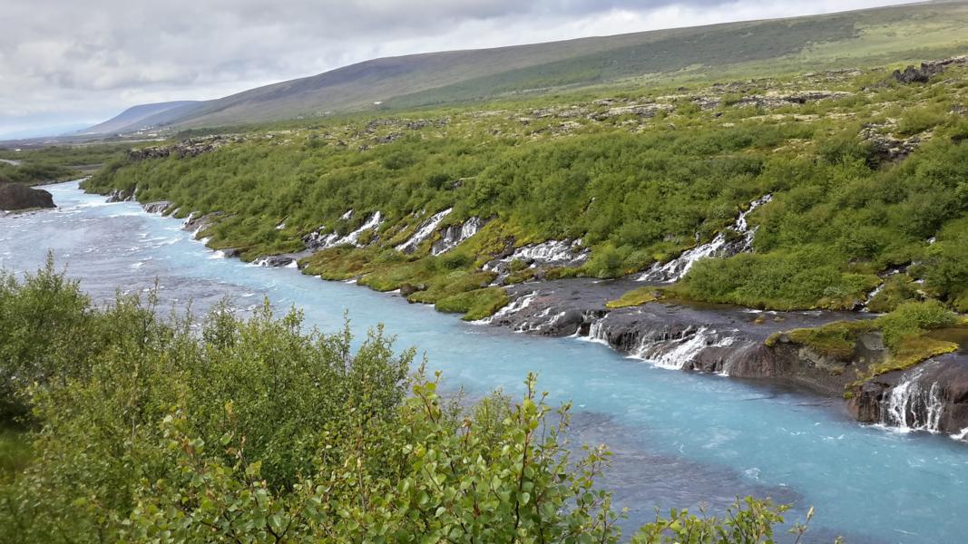
[[[567,404],[443,395],[378,329],[92,305],[52,263],[0,276],[0,540],[616,542],[604,446]],[[576,453],[579,452],[580,453]],[[672,510],[633,542],[771,542],[786,506]],[[802,535],[805,527],[792,532]]]

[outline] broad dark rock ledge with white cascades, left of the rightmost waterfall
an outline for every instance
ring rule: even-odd
[[[782,334],[862,318],[847,312],[758,312],[695,303],[651,303],[608,310],[609,300],[648,284],[631,280],[569,279],[507,287],[512,302],[490,323],[544,336],[588,336],[621,353],[686,371],[737,378],[772,378],[840,396],[857,378],[857,365],[793,344]],[[868,344],[870,346],[868,346]],[[860,343],[862,368],[875,359],[876,340]],[[883,350],[883,345],[880,346]]]

